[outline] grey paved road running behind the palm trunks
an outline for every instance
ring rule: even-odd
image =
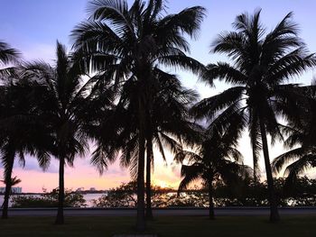
[[[284,207],[280,208],[282,215],[316,215],[316,207]],[[54,208],[34,209],[9,209],[11,216],[53,216],[56,214]],[[0,211],[1,213],[1,211]],[[65,208],[66,216],[135,216],[135,209],[126,208]],[[208,215],[206,208],[166,208],[153,209],[153,214],[158,215]],[[265,207],[218,207],[216,215],[221,216],[256,216],[267,215],[269,209]]]

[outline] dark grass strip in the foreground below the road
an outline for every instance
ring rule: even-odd
[[[149,222],[148,232],[160,237],[291,237],[316,236],[316,216],[283,217],[281,223],[267,223],[267,217],[160,216]],[[132,217],[68,217],[66,224],[53,224],[53,217],[11,217],[0,220],[0,236],[102,236],[133,233]]]

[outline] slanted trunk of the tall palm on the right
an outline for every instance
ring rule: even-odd
[[[266,180],[268,183],[269,202],[270,202],[270,222],[276,223],[280,221],[280,215],[277,209],[276,197],[275,197],[275,192],[274,192],[274,178],[272,176],[269,150],[268,150],[268,142],[266,140],[265,123],[263,123],[262,120],[260,120],[260,132],[261,132],[261,139],[262,139],[262,148],[264,151],[264,158],[265,158]]]

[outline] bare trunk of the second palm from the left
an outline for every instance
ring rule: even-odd
[[[58,211],[56,216],[56,224],[63,224],[64,223],[64,216],[63,216],[63,203],[65,199],[65,187],[64,187],[64,168],[65,168],[65,159],[60,158],[60,187],[59,187],[59,194],[58,194]]]

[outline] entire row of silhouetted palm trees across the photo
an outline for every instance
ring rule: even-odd
[[[135,0],[130,6],[125,0],[92,0],[87,9],[88,19],[70,34],[71,51],[57,41],[54,65],[25,62],[17,50],[0,43],[3,218],[14,160],[23,165],[24,154],[31,154],[42,169],[52,158],[59,160],[56,223],[64,223],[64,167],[87,155],[88,141],[94,141],[91,164],[100,173],[120,160],[136,181],[138,231],[153,218],[154,148],[164,160],[165,150],[172,151],[181,163],[180,190],[204,181],[210,207],[218,180],[228,185],[249,176],[257,180],[263,152],[270,221],[278,222],[273,173],[286,168],[288,182],[295,182],[315,163],[315,87],[290,80],[313,68],[316,58],[299,37],[293,14],[269,32],[260,21],[261,10],[237,15],[233,30],[219,33],[210,46],[210,53],[229,60],[203,65],[189,56],[188,42],[200,32],[206,16],[202,6],[166,14],[163,0]],[[229,87],[199,101],[198,92],[169,72],[175,68],[190,71],[209,87],[217,80]],[[237,150],[245,130],[252,169]],[[273,162],[268,135],[272,144],[283,141],[290,150]]]

